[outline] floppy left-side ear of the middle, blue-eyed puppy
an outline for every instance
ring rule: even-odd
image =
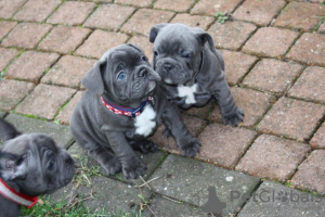
[[[104,92],[104,81],[102,72],[106,68],[107,61],[98,61],[83,76],[81,84],[91,92],[102,94]]]

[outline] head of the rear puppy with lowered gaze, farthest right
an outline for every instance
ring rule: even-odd
[[[206,42],[209,43],[209,49],[214,49],[208,33],[183,24],[153,26],[150,41],[154,43],[154,69],[169,85],[193,85]]]

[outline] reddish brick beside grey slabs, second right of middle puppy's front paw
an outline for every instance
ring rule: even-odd
[[[292,176],[309,151],[308,144],[262,135],[239,161],[236,170],[285,181]]]

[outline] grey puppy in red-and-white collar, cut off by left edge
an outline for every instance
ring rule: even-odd
[[[17,217],[21,206],[69,183],[73,157],[42,133],[21,133],[0,118],[0,217]]]

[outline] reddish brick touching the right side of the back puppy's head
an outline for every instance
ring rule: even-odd
[[[253,24],[239,21],[225,22],[224,24],[216,22],[208,33],[211,35],[217,48],[237,50],[255,29]]]

